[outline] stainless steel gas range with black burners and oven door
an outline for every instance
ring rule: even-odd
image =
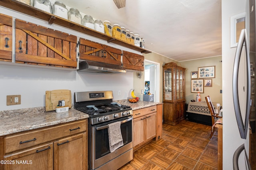
[[[75,92],[74,108],[89,115],[88,169],[116,170],[133,159],[132,108],[113,102],[112,91]],[[120,122],[123,146],[110,152],[108,127]]]

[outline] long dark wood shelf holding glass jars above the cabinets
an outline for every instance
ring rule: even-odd
[[[105,35],[103,33],[100,33],[93,29],[87,28],[83,25],[74,23],[72,21],[66,20],[64,18],[60,18],[60,17],[50,14],[48,12],[44,12],[44,11],[34,8],[32,6],[23,4],[22,2],[18,2],[16,0],[1,0],[0,6],[21,12],[23,14],[27,14],[29,16],[33,16],[35,18],[39,18],[44,21],[48,21],[48,23],[50,23],[50,24],[54,23],[56,25],[60,25],[60,26],[78,31],[78,32],[84,33],[86,35],[90,35],[92,37],[96,37],[96,38],[105,40],[108,43],[114,43],[117,45],[121,45],[123,47],[127,47],[129,49],[139,51],[140,53],[144,53],[144,54],[151,53],[151,51],[148,51],[146,49],[137,47],[135,45],[128,44],[128,43],[118,40],[118,39],[114,39],[111,36]]]

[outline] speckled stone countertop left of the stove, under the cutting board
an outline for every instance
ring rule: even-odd
[[[76,109],[56,113],[45,107],[0,111],[0,136],[88,118]]]

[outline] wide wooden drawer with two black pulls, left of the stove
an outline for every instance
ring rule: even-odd
[[[5,137],[5,153],[86,131],[87,119]]]

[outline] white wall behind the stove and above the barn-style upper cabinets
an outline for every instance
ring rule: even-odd
[[[106,41],[78,33],[58,25],[50,25],[46,21],[38,20],[18,12],[8,10],[4,7],[0,7],[0,11],[2,14],[13,16],[21,20],[29,21],[118,49],[140,54],[138,51],[134,51],[120,45],[115,45],[113,43],[107,43]],[[43,107],[45,106],[45,91],[47,90],[71,90],[72,103],[74,103],[74,92],[112,90],[114,93],[114,100],[122,100],[126,99],[128,97],[129,90],[134,88],[133,72],[120,74],[99,74],[77,72],[76,70],[56,70],[52,69],[53,67],[36,68],[20,66],[16,63],[12,63],[12,65],[6,65],[3,63],[8,62],[0,63],[0,111],[30,107]],[[118,90],[121,91],[121,96],[118,96]],[[6,95],[18,94],[21,95],[21,105],[6,106]]]

